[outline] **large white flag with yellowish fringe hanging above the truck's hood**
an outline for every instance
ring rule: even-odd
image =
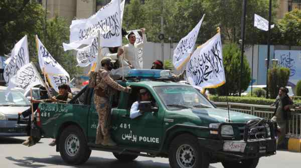
[[[192,54],[186,77],[193,86],[214,88],[225,83],[221,34],[217,33]]]

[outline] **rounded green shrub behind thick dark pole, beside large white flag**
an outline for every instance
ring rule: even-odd
[[[239,92],[240,81],[240,48],[235,43],[226,44],[223,47],[223,63],[225,68],[226,83],[217,88],[218,95],[230,95]],[[241,89],[247,89],[251,80],[251,72],[246,56],[243,56],[243,69]]]

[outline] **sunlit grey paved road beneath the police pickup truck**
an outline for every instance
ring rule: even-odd
[[[38,144],[27,147],[21,143],[27,137],[0,137],[0,167],[102,167],[102,168],[168,168],[167,158],[139,156],[135,161],[120,163],[112,153],[93,150],[89,160],[83,165],[65,164],[55,147],[49,146],[51,139],[42,139]],[[277,154],[260,159],[258,168],[295,168],[301,166],[301,153],[277,151]],[[210,168],[221,168],[221,163],[211,164]]]

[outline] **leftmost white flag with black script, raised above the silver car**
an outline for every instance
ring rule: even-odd
[[[23,65],[29,63],[27,35],[15,44],[11,56],[5,62],[7,65],[5,66],[3,75],[6,83],[9,83],[10,78],[17,74],[17,71]]]

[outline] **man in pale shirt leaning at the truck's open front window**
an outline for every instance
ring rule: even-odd
[[[140,89],[139,94],[140,94],[139,100],[135,101],[130,107],[129,117],[131,119],[142,115],[142,113],[144,112],[144,111],[140,111],[138,109],[139,102],[140,101],[150,101],[152,98],[150,93],[145,88]]]

